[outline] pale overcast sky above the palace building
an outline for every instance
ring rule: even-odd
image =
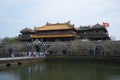
[[[76,27],[108,22],[109,35],[120,40],[120,0],[0,0],[0,38],[69,20]]]

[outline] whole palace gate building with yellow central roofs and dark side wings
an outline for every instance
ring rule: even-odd
[[[18,39],[20,41],[32,41],[39,39],[42,41],[71,41],[75,39],[88,39],[88,40],[109,40],[109,35],[106,27],[100,24],[93,26],[80,26],[75,28],[70,24],[70,21],[66,23],[56,23],[46,25],[42,27],[35,27],[34,30],[25,28],[20,31]]]

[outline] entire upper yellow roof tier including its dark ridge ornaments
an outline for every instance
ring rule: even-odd
[[[42,27],[35,27],[36,31],[44,31],[44,30],[64,30],[64,29],[74,29],[74,25],[70,24],[70,21],[66,23],[56,23],[50,24],[46,23],[45,26]]]

